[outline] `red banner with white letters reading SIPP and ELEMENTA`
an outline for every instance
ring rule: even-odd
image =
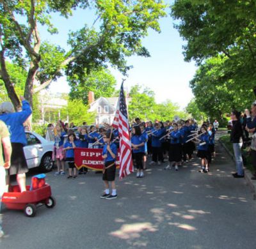
[[[75,165],[77,169],[86,167],[92,170],[103,169],[102,149],[75,148]],[[116,158],[116,167],[119,168],[120,149]]]

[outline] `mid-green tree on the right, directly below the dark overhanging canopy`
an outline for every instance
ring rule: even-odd
[[[222,119],[232,109],[243,110],[255,98],[252,89],[232,77],[227,61],[226,56],[207,59],[190,82],[198,109],[212,119]]]

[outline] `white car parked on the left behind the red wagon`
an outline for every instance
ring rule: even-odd
[[[49,142],[35,132],[26,132],[28,144],[23,147],[28,168],[40,167],[48,172],[52,170],[52,150],[54,142]]]

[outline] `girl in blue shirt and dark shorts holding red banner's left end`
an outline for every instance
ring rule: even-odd
[[[76,140],[76,135],[74,133],[70,133],[63,148],[63,151],[66,151],[66,162],[68,163],[68,179],[72,177],[75,179],[77,177],[77,170],[74,162],[74,148],[77,147],[77,145],[78,142]]]

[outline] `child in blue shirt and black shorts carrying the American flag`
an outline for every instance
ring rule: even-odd
[[[104,160],[104,167],[102,180],[106,188],[100,198],[107,200],[116,199],[117,197],[115,185],[117,147],[115,143],[111,142],[113,137],[114,135],[111,130],[103,135],[104,147],[102,149],[102,158]],[[111,183],[112,193],[109,190],[109,182]]]

